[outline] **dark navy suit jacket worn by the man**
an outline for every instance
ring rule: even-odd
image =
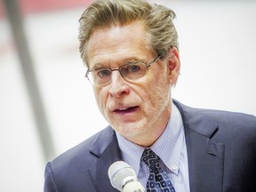
[[[256,117],[173,101],[185,128],[190,191],[256,192]],[[115,192],[108,167],[117,160],[108,126],[46,165],[44,192]]]

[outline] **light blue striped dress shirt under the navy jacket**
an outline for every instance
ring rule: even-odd
[[[116,132],[123,160],[132,166],[138,180],[146,187],[149,170],[140,162],[145,148],[126,140]],[[184,135],[184,126],[180,111],[172,103],[171,118],[158,140],[150,147],[161,158],[160,165],[167,172],[176,192],[189,192],[188,154]]]

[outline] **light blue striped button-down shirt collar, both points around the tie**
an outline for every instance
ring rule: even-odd
[[[116,137],[119,148],[121,149],[123,160],[127,164],[130,164],[138,175],[140,171],[140,157],[145,148],[126,140],[117,132]],[[180,168],[180,154],[183,139],[184,129],[180,111],[172,103],[171,118],[166,125],[163,134],[151,146],[151,149],[162,159],[165,166],[175,174],[178,174]]]

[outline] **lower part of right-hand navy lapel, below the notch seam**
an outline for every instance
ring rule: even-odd
[[[219,192],[222,188],[224,146],[187,130],[190,192]]]

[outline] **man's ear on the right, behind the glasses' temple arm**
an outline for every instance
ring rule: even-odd
[[[175,85],[180,75],[180,54],[175,46],[167,52],[169,82]]]

